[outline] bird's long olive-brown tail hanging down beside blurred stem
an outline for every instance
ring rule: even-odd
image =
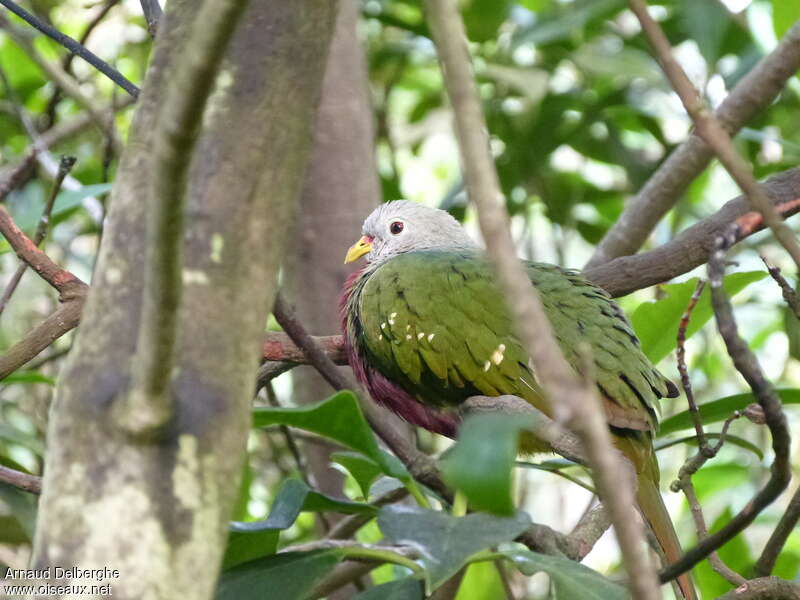
[[[643,444],[643,441],[628,436],[618,437],[616,445],[636,467],[638,479],[636,503],[639,505],[639,512],[658,540],[664,558],[668,563],[672,563],[681,557],[681,544],[664,505],[661,491],[658,489],[660,476],[652,443],[647,440],[647,443]],[[697,600],[697,593],[688,573],[679,576],[677,583],[686,600]]]

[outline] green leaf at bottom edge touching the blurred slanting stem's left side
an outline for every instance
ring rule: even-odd
[[[509,550],[505,554],[525,575],[544,571],[550,576],[559,600],[628,600],[622,586],[597,571],[568,558],[547,556],[528,550]]]

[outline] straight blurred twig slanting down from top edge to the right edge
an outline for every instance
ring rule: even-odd
[[[667,36],[650,16],[645,1],[630,0],[630,6],[650,40],[672,88],[680,97],[686,112],[692,117],[697,133],[711,146],[725,170],[747,194],[753,208],[764,216],[764,221],[778,242],[792,257],[800,272],[800,244],[798,244],[795,234],[783,222],[764,190],[753,178],[752,168],[734,148],[730,133],[706,106],[683,68],[675,60]]]

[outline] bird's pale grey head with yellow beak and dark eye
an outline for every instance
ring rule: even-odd
[[[363,237],[350,248],[345,262],[365,254],[367,262],[381,263],[414,250],[477,247],[450,214],[408,200],[381,204],[364,221],[361,233]]]

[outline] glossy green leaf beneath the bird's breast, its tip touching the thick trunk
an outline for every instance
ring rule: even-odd
[[[355,394],[342,391],[319,404],[300,408],[263,407],[253,410],[253,426],[291,425],[324,435],[371,458],[390,477],[410,478],[397,458],[378,447]]]

